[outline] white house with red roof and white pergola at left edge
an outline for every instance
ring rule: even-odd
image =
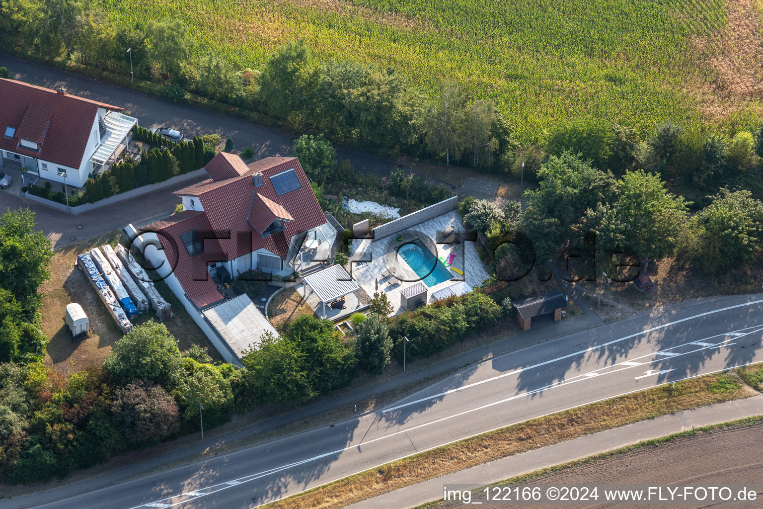
[[[111,167],[137,119],[124,108],[0,79],[0,166],[82,187]]]

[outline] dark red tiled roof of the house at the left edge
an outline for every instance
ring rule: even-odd
[[[0,130],[6,126],[17,130],[14,138],[0,135],[0,148],[51,163],[79,168],[85,158],[95,115],[98,108],[122,111],[118,106],[92,101],[76,95],[60,94],[55,90],[0,78]],[[24,140],[37,141],[41,122],[47,111],[47,132],[39,151],[18,146],[19,130]],[[89,154],[87,154],[89,155]]]

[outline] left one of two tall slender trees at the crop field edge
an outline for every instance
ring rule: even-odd
[[[467,143],[464,134],[464,95],[458,85],[445,82],[442,91],[424,112],[424,133],[427,146],[436,155],[458,157]]]

